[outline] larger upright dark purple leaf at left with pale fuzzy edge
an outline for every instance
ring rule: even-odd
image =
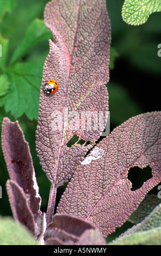
[[[10,179],[23,189],[36,220],[40,210],[41,197],[29,146],[24,139],[18,121],[12,123],[8,118],[3,119],[2,148]]]

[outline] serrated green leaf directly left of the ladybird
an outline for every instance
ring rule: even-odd
[[[42,68],[43,64],[26,62],[17,63],[8,70],[11,87],[0,102],[15,118],[25,113],[29,119],[38,119]]]

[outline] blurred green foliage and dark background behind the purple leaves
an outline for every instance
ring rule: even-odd
[[[42,70],[49,50],[48,38],[52,39],[43,20],[47,2],[0,0],[0,124],[3,117],[20,123],[33,157],[42,211],[47,208],[50,184],[36,156],[35,130]],[[160,111],[161,57],[157,55],[157,46],[161,43],[161,14],[153,13],[143,25],[131,26],[122,19],[123,3],[123,0],[107,0],[112,25],[107,84],[111,131],[134,115]],[[3,193],[0,215],[4,216],[12,215],[5,189],[7,179],[9,175],[0,149]]]

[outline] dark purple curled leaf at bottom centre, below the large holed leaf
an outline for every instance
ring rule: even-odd
[[[105,245],[101,233],[88,221],[55,214],[44,234],[46,245]]]

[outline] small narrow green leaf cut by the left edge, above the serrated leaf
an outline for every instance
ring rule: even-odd
[[[0,72],[1,72],[1,69],[5,67],[5,62],[7,59],[7,52],[8,52],[8,43],[9,43],[9,40],[3,38],[3,36],[0,33]]]

